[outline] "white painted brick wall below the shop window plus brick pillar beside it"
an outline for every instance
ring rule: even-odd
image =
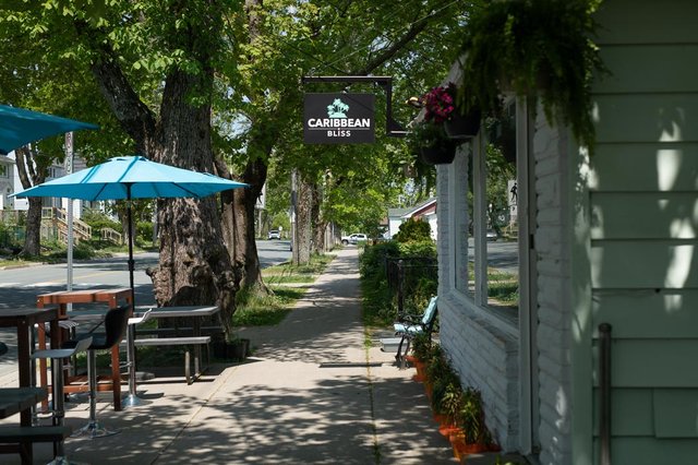
[[[539,400],[541,443],[540,463],[573,463],[570,418],[570,314],[566,301],[569,294],[569,263],[566,229],[563,224],[563,193],[566,157],[561,151],[567,141],[556,130],[537,122],[534,136],[535,199],[538,214],[534,234],[538,251],[535,283],[539,298],[539,326],[533,338],[539,347]],[[449,273],[454,269],[449,240],[453,237],[449,213],[456,201],[449,200],[449,182],[464,182],[467,164],[457,158],[452,168],[440,167],[438,177],[438,253],[441,342],[458,370],[465,385],[482,392],[486,424],[504,450],[516,450],[519,436],[518,341],[504,334],[483,319],[462,294],[450,289]],[[452,186],[450,192],[455,189]]]

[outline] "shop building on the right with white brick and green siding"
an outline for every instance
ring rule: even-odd
[[[516,301],[490,293],[484,131],[436,168],[442,346],[495,440],[534,463],[698,463],[697,17],[688,0],[602,3],[593,157],[508,100]]]

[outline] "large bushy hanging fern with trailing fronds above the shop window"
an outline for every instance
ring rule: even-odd
[[[591,83],[605,72],[591,40],[597,0],[497,0],[474,9],[465,29],[464,96],[496,115],[501,95],[540,98],[551,124],[569,124],[593,150]],[[464,97],[465,98],[465,97]]]

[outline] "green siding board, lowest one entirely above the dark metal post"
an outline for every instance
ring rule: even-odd
[[[594,288],[698,288],[698,241],[684,242],[593,241],[591,284]]]

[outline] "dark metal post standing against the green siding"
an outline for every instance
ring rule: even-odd
[[[611,465],[611,330],[599,325],[599,442],[601,465]]]

